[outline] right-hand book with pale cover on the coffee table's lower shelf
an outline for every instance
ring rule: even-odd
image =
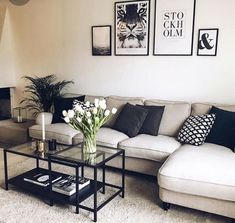
[[[84,177],[78,178],[78,189],[89,185],[90,180]],[[76,176],[67,176],[65,178],[60,179],[52,185],[52,190],[61,193],[67,196],[71,196],[76,193]]]

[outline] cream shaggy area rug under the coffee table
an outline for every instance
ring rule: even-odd
[[[3,186],[2,151],[0,155],[0,180]],[[45,166],[46,164],[42,164]],[[10,176],[29,170],[35,166],[34,160],[17,162],[11,159]],[[65,170],[62,166],[54,166],[56,170]],[[68,169],[66,171],[72,171]],[[91,174],[87,170],[88,175]],[[108,171],[107,179],[118,183],[119,174]],[[109,194],[109,191],[106,193]],[[102,194],[99,196],[103,197]],[[91,197],[92,198],[92,197]],[[86,204],[93,204],[89,199]],[[98,212],[100,223],[230,223],[231,219],[205,212],[172,205],[168,212],[159,207],[157,180],[143,176],[128,174],[126,176],[126,196],[116,197]],[[75,213],[75,207],[55,204],[50,207],[46,201],[17,191],[10,187],[5,191],[0,187],[0,223],[87,223],[92,222],[93,214],[81,210]]]

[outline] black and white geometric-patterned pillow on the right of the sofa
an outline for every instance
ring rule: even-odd
[[[202,145],[215,122],[215,114],[190,116],[179,131],[178,140],[195,146]]]

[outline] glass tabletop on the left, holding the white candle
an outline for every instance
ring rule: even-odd
[[[68,145],[57,144],[56,150],[50,151],[50,150],[46,149],[45,153],[37,153],[36,152],[36,141],[31,141],[31,142],[27,142],[25,144],[21,144],[18,146],[5,148],[4,150],[6,150],[7,152],[10,152],[10,153],[15,153],[15,154],[22,155],[22,156],[28,156],[28,157],[33,157],[36,159],[47,160],[50,155],[53,155],[53,154],[60,152],[60,151],[63,151],[65,149],[67,149],[68,147],[69,147]]]

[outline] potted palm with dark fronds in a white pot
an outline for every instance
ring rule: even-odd
[[[45,114],[47,124],[52,121],[53,104],[56,98],[65,94],[66,87],[73,84],[73,81],[57,81],[54,74],[44,77],[23,76],[23,79],[29,81],[30,84],[25,86],[24,93],[27,93],[20,103],[24,103],[28,111],[37,117],[37,123],[40,123],[40,113]]]

